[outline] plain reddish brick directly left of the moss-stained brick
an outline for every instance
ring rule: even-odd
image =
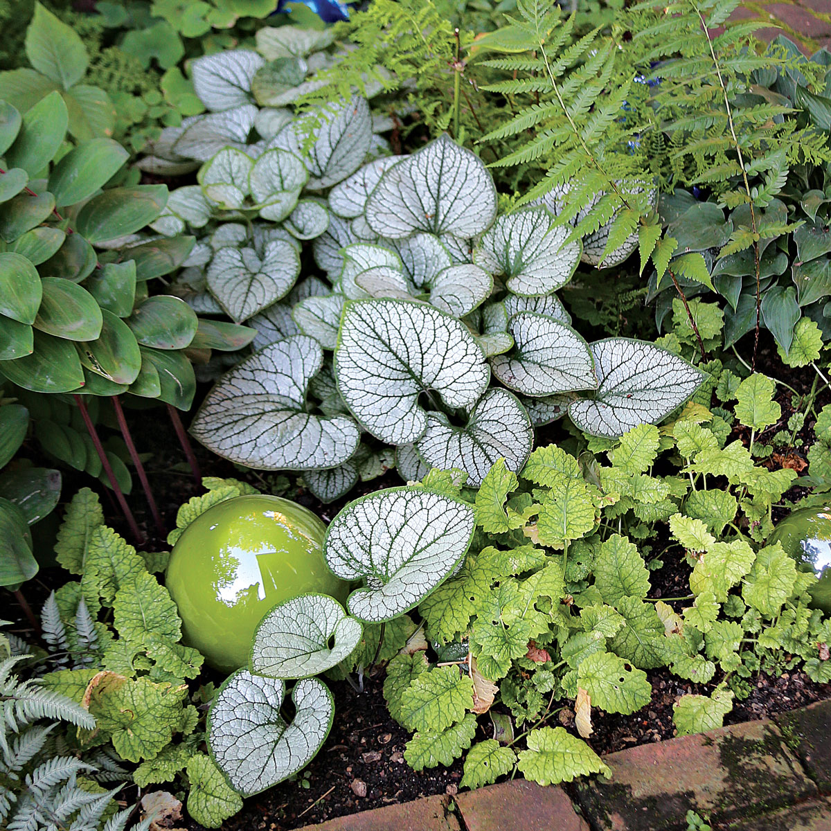
[[[589,831],[561,788],[516,779],[456,797],[467,831]]]

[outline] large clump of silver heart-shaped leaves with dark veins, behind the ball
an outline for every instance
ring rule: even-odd
[[[214,116],[248,113],[240,140],[251,124],[279,130],[219,150],[199,170],[201,188],[182,194],[207,206],[198,221],[212,230],[194,263],[202,271],[184,275],[210,294],[191,302],[248,320],[254,346],[265,347],[219,382],[194,420],[211,450],[308,471],[315,493],[334,499],[365,470],[389,466],[361,444],[365,431],[396,447],[406,479],[422,465],[459,467],[479,484],[500,456],[521,468],[532,423],[568,409],[584,430],[620,435],[661,420],[699,385],[698,371],[650,344],[589,346],[554,296],[577,266],[579,240],[552,229],[543,205],[497,217],[488,171],[447,136],[403,159],[372,158],[363,99],[283,124],[290,114],[243,103],[256,53],[202,61],[209,106],[230,107]],[[211,117],[178,140],[209,129]],[[318,195],[302,199],[304,187]],[[238,216],[261,221],[215,224]],[[178,232],[194,220],[160,221]],[[295,283],[299,240],[309,238],[327,278]]]

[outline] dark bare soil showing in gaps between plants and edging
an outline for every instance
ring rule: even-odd
[[[746,340],[750,341],[750,337]],[[752,347],[752,344],[751,344]],[[808,371],[790,370],[783,366],[770,346],[760,344],[760,353],[757,361],[757,371],[781,379],[788,383],[800,394],[809,391],[813,382],[813,373]],[[779,387],[781,390],[782,388]],[[774,425],[758,437],[765,439],[774,435],[776,430],[783,429],[789,416],[793,412],[792,393],[784,391],[777,398],[782,405],[782,418],[779,425]],[[829,391],[825,390],[817,396],[815,410],[831,401]],[[127,418],[134,431],[135,444],[139,452],[153,449],[146,461],[150,483],[160,502],[165,527],[175,527],[175,516],[179,504],[195,494],[202,493],[194,481],[188,465],[184,462],[184,454],[179,447],[175,432],[166,418],[164,410],[130,410],[127,409]],[[763,463],[770,467],[789,466],[798,472],[804,470],[804,460],[807,450],[814,440],[814,417],[806,420],[804,430],[797,436],[794,448],[787,454],[771,457]],[[104,419],[106,423],[106,418]],[[108,432],[106,426],[103,431]],[[540,431],[538,444],[546,444],[561,437],[557,425]],[[730,440],[748,437],[737,431]],[[37,455],[37,447],[27,447],[29,455]],[[268,492],[279,479],[271,475],[259,476],[253,473],[241,473],[234,465],[221,460],[208,451],[194,445],[203,475],[235,476],[245,478]],[[134,477],[135,478],[135,477]],[[284,483],[285,480],[283,480]],[[88,477],[65,473],[64,493],[71,494],[83,485],[92,486],[102,495],[108,521],[125,538],[130,538],[129,529],[117,511],[115,501],[109,492],[98,483],[92,483]],[[395,473],[385,475],[382,479],[363,485],[364,491],[380,487],[400,484]],[[788,502],[796,502],[807,493],[806,489],[794,487],[786,494],[783,507],[776,509],[774,520],[781,519],[789,511]],[[337,514],[348,499],[338,503],[323,505],[314,499],[311,494],[302,490],[293,490],[283,495],[296,499],[301,504],[319,514],[322,519],[329,521]],[[357,493],[352,493],[354,498]],[[155,536],[155,530],[150,521],[150,514],[145,507],[144,495],[141,493],[138,482],[135,481],[133,493],[128,498],[135,512],[140,529],[146,534],[147,548],[165,550],[166,544]],[[52,532],[54,533],[54,532]],[[50,550],[48,538],[39,546],[41,550]],[[652,540],[653,556],[659,555],[666,541]],[[653,597],[679,597],[689,591],[687,580],[689,566],[683,558],[662,555],[663,567],[652,572]],[[57,588],[66,580],[66,573],[57,568],[43,568],[42,572],[30,583],[25,590],[27,599],[32,607],[40,608],[42,601],[52,588]],[[677,604],[680,608],[682,604]],[[23,637],[32,638],[32,628],[27,624],[22,609],[16,605],[8,607],[4,617],[12,617],[16,623],[12,631]],[[634,715],[604,715],[593,714],[594,735],[589,744],[598,753],[604,754],[615,750],[623,750],[633,745],[670,739],[674,734],[672,724],[672,706],[679,696],[689,692],[707,692],[706,687],[699,687],[688,681],[671,676],[666,670],[651,671],[652,702],[642,711]],[[219,676],[216,679],[221,681]],[[715,679],[714,681],[718,681]],[[229,819],[223,826],[226,831],[288,831],[297,829],[305,824],[322,822],[325,819],[352,814],[358,811],[382,807],[386,804],[406,802],[420,796],[431,794],[454,794],[461,779],[461,763],[457,761],[449,769],[438,768],[415,773],[406,765],[403,752],[407,731],[393,721],[386,711],[386,704],[381,693],[383,671],[376,671],[374,676],[363,678],[363,690],[357,691],[346,681],[329,682],[336,701],[336,715],[332,731],[312,764],[295,779],[284,782],[248,799],[243,811]],[[744,701],[736,701],[734,710],[727,716],[726,722],[733,724],[745,720],[762,718],[781,711],[787,711],[804,706],[812,701],[831,698],[831,685],[819,686],[809,681],[802,672],[785,671],[778,678],[772,676],[758,676],[749,681],[750,693]],[[552,715],[550,722],[562,724],[567,728],[573,727],[573,712],[564,708]],[[489,720],[481,719],[483,725],[479,728],[477,740],[489,738],[493,735],[493,726]],[[164,786],[160,786],[164,787]],[[125,799],[135,794],[126,793]],[[195,831],[200,827],[190,824],[189,829]]]

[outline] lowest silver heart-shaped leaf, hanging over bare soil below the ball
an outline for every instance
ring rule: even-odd
[[[294,718],[280,715],[285,685],[238,670],[219,688],[208,715],[208,743],[219,770],[243,796],[253,796],[302,770],[332,727],[332,694],[316,678],[298,681]]]

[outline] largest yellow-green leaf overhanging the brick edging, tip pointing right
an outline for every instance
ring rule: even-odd
[[[564,727],[540,727],[528,735],[528,750],[519,751],[519,770],[537,784],[571,782],[578,776],[608,773],[607,765]]]

